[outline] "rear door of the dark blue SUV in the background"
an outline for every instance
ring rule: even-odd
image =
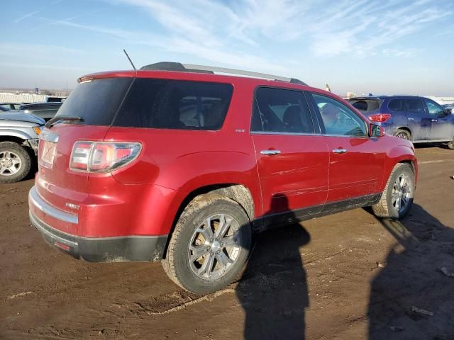
[[[406,98],[405,109],[412,134],[411,140],[429,140],[433,117],[426,112],[423,101],[420,98]]]

